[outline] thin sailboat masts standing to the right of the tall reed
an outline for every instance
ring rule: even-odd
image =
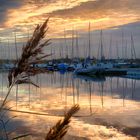
[[[70,59],[74,59],[77,57],[80,57],[80,51],[81,49],[84,52],[84,58],[95,58],[95,56],[93,56],[93,44],[91,43],[92,39],[91,39],[91,23],[89,22],[89,28],[88,28],[88,42],[86,43],[86,41],[83,42],[84,46],[81,46],[81,40],[82,38],[79,38],[78,32],[74,31],[74,29],[72,30],[72,35],[71,35],[71,45],[69,43],[68,45],[68,41],[67,41],[67,36],[66,36],[66,30],[64,30],[64,43],[60,43],[60,48],[59,48],[59,54],[58,56],[60,56],[60,58],[70,58]],[[80,41],[79,41],[80,40]],[[99,46],[98,47],[98,51],[97,51],[97,59],[103,60],[105,59],[105,46],[104,46],[104,39],[103,39],[103,31],[100,31],[100,39],[99,39]],[[135,51],[135,46],[134,46],[134,39],[133,39],[133,35],[131,33],[130,36],[130,53],[128,52],[128,40],[124,39],[124,33],[122,32],[122,46],[120,45],[119,41],[116,41],[116,45],[114,46],[114,50],[116,51],[116,59],[136,59],[136,51]],[[65,47],[65,49],[64,49]],[[111,34],[110,37],[110,44],[109,44],[109,50],[108,50],[108,56],[107,59],[114,59],[113,55],[112,55],[112,51],[113,51],[113,37]],[[122,50],[121,50],[122,48]],[[96,49],[95,49],[96,50]],[[55,50],[54,50],[55,52]],[[129,53],[129,57],[128,57],[128,53]],[[82,55],[83,56],[83,55]]]

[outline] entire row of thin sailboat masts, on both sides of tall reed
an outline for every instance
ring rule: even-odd
[[[54,54],[51,58],[52,59],[57,59],[57,58],[70,58],[70,59],[74,59],[74,58],[97,58],[100,60],[103,60],[105,58],[105,52],[104,50],[106,49],[105,45],[104,45],[104,39],[103,39],[103,31],[100,31],[100,39],[99,39],[99,45],[98,46],[94,46],[91,42],[92,42],[92,38],[91,38],[91,23],[89,22],[89,26],[88,26],[88,40],[86,41],[86,38],[81,38],[78,31],[75,31],[74,29],[72,29],[72,34],[71,34],[71,38],[67,38],[67,34],[66,34],[66,30],[64,29],[64,38],[63,38],[63,42],[61,40],[59,43],[59,47],[51,47],[51,54]],[[12,59],[10,57],[12,57],[11,52],[13,51],[15,58],[13,59],[18,59],[18,46],[17,46],[17,34],[16,32],[14,33],[14,42],[15,42],[15,48],[14,50],[11,50],[11,46],[9,43],[9,39],[7,40],[7,45],[3,44],[2,45],[2,40],[0,40],[0,47],[1,47],[1,52],[2,55],[4,56],[2,58],[5,58],[5,51],[7,50],[7,59]],[[29,31],[28,31],[28,38],[29,38]],[[84,41],[83,41],[83,40]],[[68,40],[71,40],[71,44],[70,42],[68,43]],[[5,41],[3,41],[5,42]],[[83,42],[83,44],[81,44],[81,42]],[[128,52],[128,40],[124,39],[124,33],[122,31],[122,46],[120,46],[119,41],[116,41],[116,46],[113,45],[113,37],[111,34],[110,37],[110,44],[108,47],[108,56],[106,56],[107,59],[113,59],[112,56],[112,51],[115,50],[116,51],[116,59],[136,59],[136,50],[135,50],[135,45],[134,45],[134,38],[133,35],[131,33],[130,36],[130,52]],[[6,49],[6,46],[8,47],[8,49]],[[112,48],[114,47],[114,48]],[[59,49],[58,49],[59,48]],[[94,48],[94,49],[93,49]],[[98,48],[98,49],[97,49]],[[122,48],[122,50],[120,50]],[[97,49],[97,50],[96,50]],[[94,52],[93,52],[94,51]],[[95,51],[97,51],[97,56],[93,56],[93,54],[95,55]],[[84,53],[84,55],[81,55],[81,52]],[[120,55],[122,53],[122,55]],[[129,53],[129,57],[128,57],[128,53]],[[56,55],[57,54],[57,55]],[[1,59],[2,59],[1,58]]]

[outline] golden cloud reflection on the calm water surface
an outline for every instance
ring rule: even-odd
[[[47,75],[43,74],[43,79],[46,82]],[[45,77],[44,77],[45,76]],[[49,81],[50,79],[48,79]],[[45,84],[43,81],[42,84]],[[60,79],[56,80],[57,82],[60,81]],[[98,84],[97,84],[98,85]],[[52,87],[53,86],[53,87]],[[25,88],[23,86],[23,88]],[[94,89],[95,86],[94,86]],[[46,114],[46,115],[33,115],[33,114],[19,114],[19,112],[14,112],[14,115],[20,116],[19,118],[25,121],[25,124],[28,126],[28,128],[34,128],[35,133],[42,133],[45,132],[44,128],[46,127],[44,125],[50,126],[54,124],[55,121],[57,121],[58,116],[62,115],[64,111],[68,110],[69,107],[73,105],[73,98],[75,98],[77,95],[70,96],[69,94],[66,94],[66,89],[63,87],[63,94],[60,94],[60,88],[54,87],[53,84],[50,86],[44,86],[41,88],[41,95],[40,90],[38,92],[32,92],[31,93],[31,100],[30,100],[30,106],[27,105],[28,101],[24,103],[24,97],[22,97],[22,101],[19,100],[18,102],[18,110],[22,110],[25,112],[31,112],[31,113],[40,113],[40,114]],[[33,89],[32,89],[33,91]],[[53,93],[53,94],[52,94]],[[109,93],[110,94],[110,93]],[[13,95],[13,94],[12,94]],[[80,100],[78,104],[80,105],[80,111],[78,112],[78,116],[84,116],[84,117],[76,117],[72,119],[71,122],[71,129],[69,131],[70,134],[73,134],[74,136],[85,136],[86,138],[100,138],[100,139],[132,139],[131,135],[127,136],[128,134],[122,134],[120,131],[117,131],[117,129],[112,129],[107,126],[113,126],[120,128],[124,127],[129,128],[137,128],[139,127],[139,114],[140,114],[140,104],[136,101],[132,100],[125,100],[125,106],[122,107],[122,99],[112,98],[111,96],[104,96],[104,107],[101,107],[101,97],[96,95],[96,91],[91,96],[91,101],[89,98],[89,94],[80,92]],[[113,94],[112,94],[113,95]],[[21,95],[19,94],[21,97]],[[24,95],[25,98],[28,98],[28,94]],[[65,97],[67,96],[67,97]],[[20,99],[20,98],[18,98]],[[67,100],[67,102],[66,102]],[[76,98],[75,101],[77,102]],[[11,102],[12,104],[15,104],[14,101]],[[90,105],[91,103],[91,105]],[[93,115],[89,113],[89,111],[93,111]],[[47,116],[48,114],[48,116]],[[52,115],[52,116],[51,116]],[[47,116],[47,117],[46,117]],[[86,117],[85,117],[86,116]],[[94,117],[93,117],[94,116]],[[132,116],[134,119],[132,119]],[[28,119],[27,119],[28,117]],[[123,119],[122,119],[123,118]],[[117,122],[117,126],[116,126]],[[129,122],[129,123],[128,123]],[[98,125],[96,125],[98,124]],[[102,125],[105,126],[102,126]],[[117,127],[119,129],[119,127]],[[86,128],[86,129],[85,129]],[[80,132],[80,133],[78,133]],[[131,134],[131,133],[130,133]],[[104,138],[105,136],[105,138]],[[134,136],[134,135],[133,135]]]

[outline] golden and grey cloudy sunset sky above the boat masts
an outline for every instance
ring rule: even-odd
[[[116,44],[120,57],[122,47],[127,44],[127,56],[130,56],[130,34],[133,34],[137,57],[140,57],[140,1],[139,0],[0,0],[0,38],[5,44],[14,41],[17,34],[19,45],[25,42],[36,24],[48,16],[48,37],[59,55],[60,46],[71,49],[72,30],[78,32],[80,55],[86,55],[88,42],[88,24],[91,24],[91,55],[97,56],[100,42],[100,30],[103,29],[103,44],[106,57],[109,56],[109,44],[112,36],[112,51],[116,55]],[[67,42],[64,41],[66,30]],[[124,41],[122,43],[122,33]],[[126,43],[127,41],[127,43]],[[117,43],[116,43],[117,42]],[[12,47],[12,45],[11,45]],[[75,54],[76,55],[76,54]]]

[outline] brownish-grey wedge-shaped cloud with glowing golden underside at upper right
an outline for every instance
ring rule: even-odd
[[[138,0],[97,0],[82,2],[71,9],[51,13],[54,18],[83,25],[93,22],[94,28],[107,28],[140,20],[140,1]],[[97,23],[97,24],[96,24]],[[84,25],[85,26],[85,25]],[[100,26],[100,27],[99,27]]]

